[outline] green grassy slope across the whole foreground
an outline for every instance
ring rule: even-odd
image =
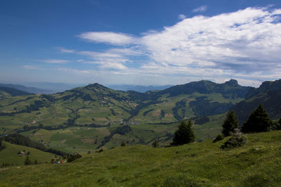
[[[0,186],[279,186],[281,131],[248,134],[248,143],[221,150],[223,141],[171,148],[127,146],[61,165],[0,170]]]

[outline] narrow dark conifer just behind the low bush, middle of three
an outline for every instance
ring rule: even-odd
[[[228,111],[226,114],[226,120],[223,122],[223,136],[229,136],[230,132],[234,132],[239,126],[239,121],[237,120],[237,115],[233,110]]]

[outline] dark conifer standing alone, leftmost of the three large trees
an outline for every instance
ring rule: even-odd
[[[178,126],[178,129],[175,131],[171,146],[179,146],[185,143],[191,143],[195,141],[195,138],[196,136],[192,129],[192,122],[181,121],[181,124]]]

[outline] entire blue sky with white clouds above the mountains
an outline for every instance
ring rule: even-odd
[[[281,79],[281,1],[1,0],[0,82]]]

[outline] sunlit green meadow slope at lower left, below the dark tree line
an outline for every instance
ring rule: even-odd
[[[32,162],[34,162],[34,160],[37,160],[38,162],[51,162],[51,159],[54,158],[54,154],[46,153],[35,148],[18,146],[4,141],[3,144],[6,148],[0,151],[0,165],[2,165],[2,163],[22,165],[25,157],[20,157],[18,155],[18,152],[22,152],[22,150],[25,150],[25,153],[30,151],[29,158]]]

